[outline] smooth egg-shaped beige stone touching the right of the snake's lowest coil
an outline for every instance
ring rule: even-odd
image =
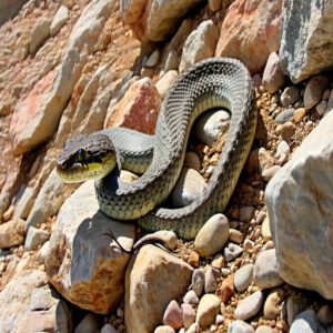
[[[194,240],[201,256],[214,255],[221,251],[229,239],[229,221],[223,214],[211,216],[201,228]]]

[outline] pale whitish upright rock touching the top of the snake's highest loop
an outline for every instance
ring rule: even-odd
[[[200,23],[185,41],[179,71],[183,72],[195,62],[212,57],[215,52],[218,38],[218,28],[212,20]]]

